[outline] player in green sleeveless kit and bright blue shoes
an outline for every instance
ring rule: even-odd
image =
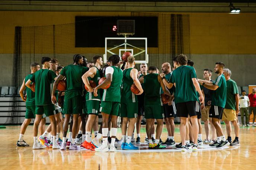
[[[134,68],[135,58],[129,56],[127,58],[127,68],[123,71],[123,89],[121,94],[121,117],[122,120],[122,145],[124,150],[138,150],[137,146],[131,143],[134,125],[138,115],[138,99],[137,96],[131,92],[131,85],[134,84],[140,91],[137,95],[143,93],[140,81],[138,80],[138,70]],[[127,123],[129,119],[129,125]],[[127,133],[127,138],[126,138]]]

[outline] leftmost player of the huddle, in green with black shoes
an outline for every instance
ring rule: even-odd
[[[23,136],[25,134],[26,128],[31,122],[31,119],[35,118],[35,115],[36,115],[35,92],[33,92],[29,88],[26,88],[25,82],[27,82],[28,79],[30,79],[33,76],[33,73],[40,70],[40,65],[38,63],[31,63],[30,69],[31,69],[31,73],[25,77],[19,91],[21,99],[26,102],[26,114],[25,114],[25,120],[23,121],[20,127],[20,137],[19,137],[19,140],[17,141],[16,146],[29,146],[29,144],[27,144],[23,140]],[[26,97],[24,97],[24,94],[23,94],[23,91],[25,89],[26,89]]]

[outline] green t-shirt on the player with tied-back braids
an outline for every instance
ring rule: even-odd
[[[65,99],[70,99],[78,95],[82,95],[83,81],[82,76],[89,68],[80,65],[65,66],[60,74],[66,77],[67,87],[65,91]]]

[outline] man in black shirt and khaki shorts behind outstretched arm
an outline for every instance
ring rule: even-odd
[[[204,79],[208,81],[212,81],[211,79],[212,71],[211,69],[204,69]],[[212,101],[212,90],[206,88],[203,86],[204,90],[204,109],[201,110],[202,112],[202,118],[201,120],[204,121],[204,129],[205,129],[205,135],[206,139],[203,141],[204,144],[213,144],[215,142],[216,138],[216,130],[214,128],[214,125],[212,125],[211,118],[209,118],[209,110],[211,108],[211,101]],[[212,138],[209,138],[210,136],[210,126],[211,125],[211,132],[212,132]]]

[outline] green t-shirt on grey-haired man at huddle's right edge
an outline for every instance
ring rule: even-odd
[[[235,94],[239,94],[237,84],[232,79],[229,79],[227,82],[227,100],[225,109],[233,109],[236,110],[236,96]]]

